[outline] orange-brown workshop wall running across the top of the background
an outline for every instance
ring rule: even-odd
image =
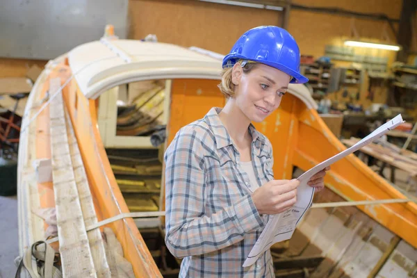
[[[294,0],[294,3],[385,13],[393,18],[400,16],[402,6],[402,0]],[[131,0],[129,38],[140,39],[155,33],[161,42],[194,45],[226,54],[247,29],[263,24],[281,26],[282,17],[283,13],[272,10],[191,0]],[[292,9],[288,30],[300,44],[302,54],[318,57],[324,54],[325,44],[341,44],[341,37],[350,35],[350,24],[350,17]],[[382,37],[383,22],[355,19],[355,26],[361,36]],[[386,30],[392,35],[389,28]],[[379,51],[377,55],[387,54]],[[390,61],[395,59],[393,52],[388,55]],[[0,78],[24,76],[31,65],[42,67],[45,63],[47,61],[0,58]]]

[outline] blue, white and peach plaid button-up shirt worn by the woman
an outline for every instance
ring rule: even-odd
[[[166,236],[180,277],[275,277],[270,251],[243,262],[268,222],[259,215],[250,179],[220,122],[220,108],[184,126],[165,152]],[[256,188],[273,179],[270,141],[251,124]]]

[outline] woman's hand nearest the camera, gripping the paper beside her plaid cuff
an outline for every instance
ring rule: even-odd
[[[291,208],[297,202],[297,179],[272,180],[256,189],[252,200],[259,214],[277,214]]]

